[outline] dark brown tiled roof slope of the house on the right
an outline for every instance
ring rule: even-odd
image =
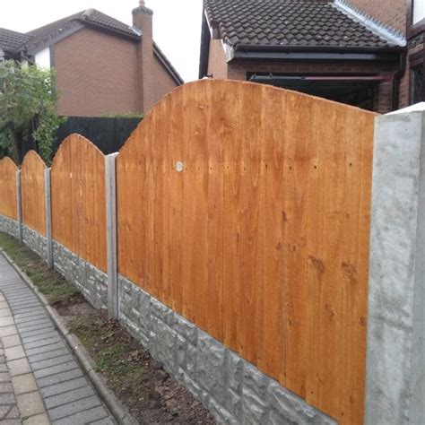
[[[324,0],[204,0],[230,46],[392,48],[368,27]]]

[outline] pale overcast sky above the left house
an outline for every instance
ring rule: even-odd
[[[0,28],[26,32],[93,8],[132,23],[138,0],[0,0]],[[146,0],[153,10],[153,38],[186,82],[197,79],[202,0]]]

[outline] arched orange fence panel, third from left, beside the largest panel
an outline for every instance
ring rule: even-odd
[[[107,271],[105,157],[89,140],[71,134],[51,169],[52,237]]]

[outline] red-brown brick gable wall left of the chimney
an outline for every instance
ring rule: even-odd
[[[58,113],[96,117],[137,111],[136,43],[82,29],[55,45]]]

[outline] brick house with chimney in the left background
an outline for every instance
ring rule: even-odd
[[[58,113],[66,116],[147,112],[183,83],[152,39],[143,1],[133,27],[88,9],[26,34],[0,30],[0,56],[54,67]]]

